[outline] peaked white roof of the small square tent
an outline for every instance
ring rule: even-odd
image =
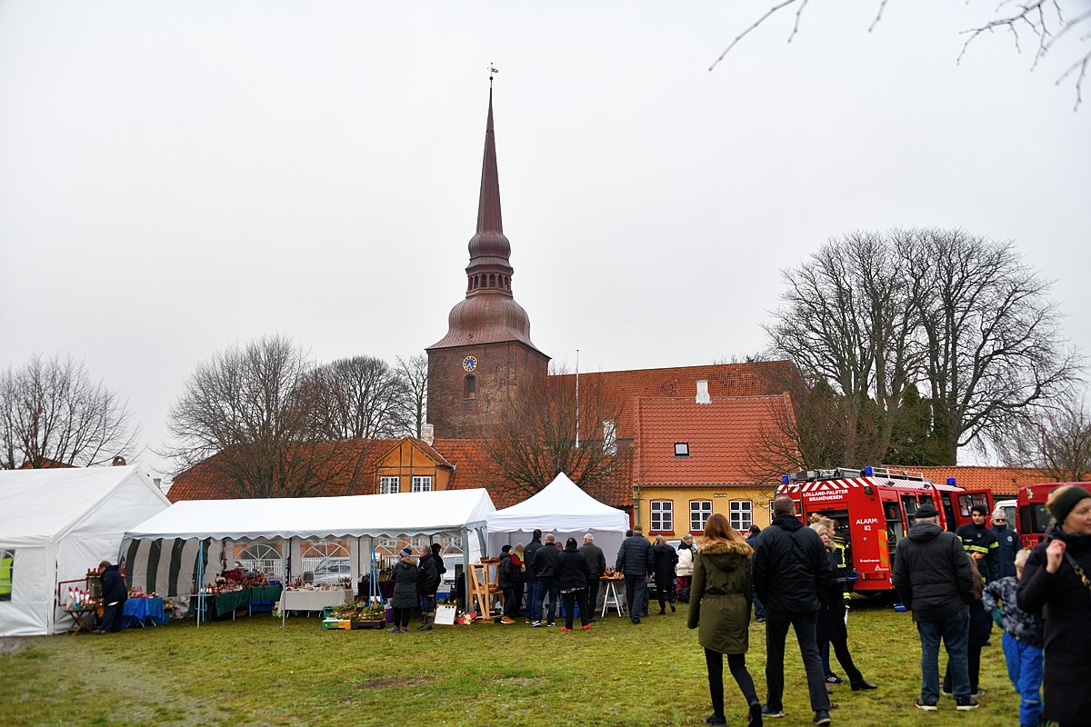
[[[618,530],[628,528],[624,510],[598,501],[561,472],[537,495],[489,517],[490,532],[514,530]]]

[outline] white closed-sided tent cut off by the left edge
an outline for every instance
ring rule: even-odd
[[[11,562],[0,635],[67,630],[72,620],[58,607],[60,584],[79,580],[72,585],[83,587],[88,568],[117,562],[128,528],[169,506],[134,467],[0,472],[0,557]]]

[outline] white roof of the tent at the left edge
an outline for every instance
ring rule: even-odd
[[[0,472],[0,542],[46,542],[80,523],[130,478],[166,496],[135,467]]]

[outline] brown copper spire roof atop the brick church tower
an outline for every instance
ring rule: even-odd
[[[492,88],[489,89],[489,117],[484,130],[477,233],[470,238],[469,254],[466,300],[451,310],[447,335],[429,349],[518,341],[537,351],[530,341],[530,317],[512,295],[513,269],[508,262],[512,244],[504,237],[500,211]]]

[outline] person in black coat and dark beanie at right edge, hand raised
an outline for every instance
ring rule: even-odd
[[[1016,587],[1019,608],[1045,617],[1042,719],[1091,724],[1091,492],[1065,485],[1050,494],[1053,524],[1031,550]]]

